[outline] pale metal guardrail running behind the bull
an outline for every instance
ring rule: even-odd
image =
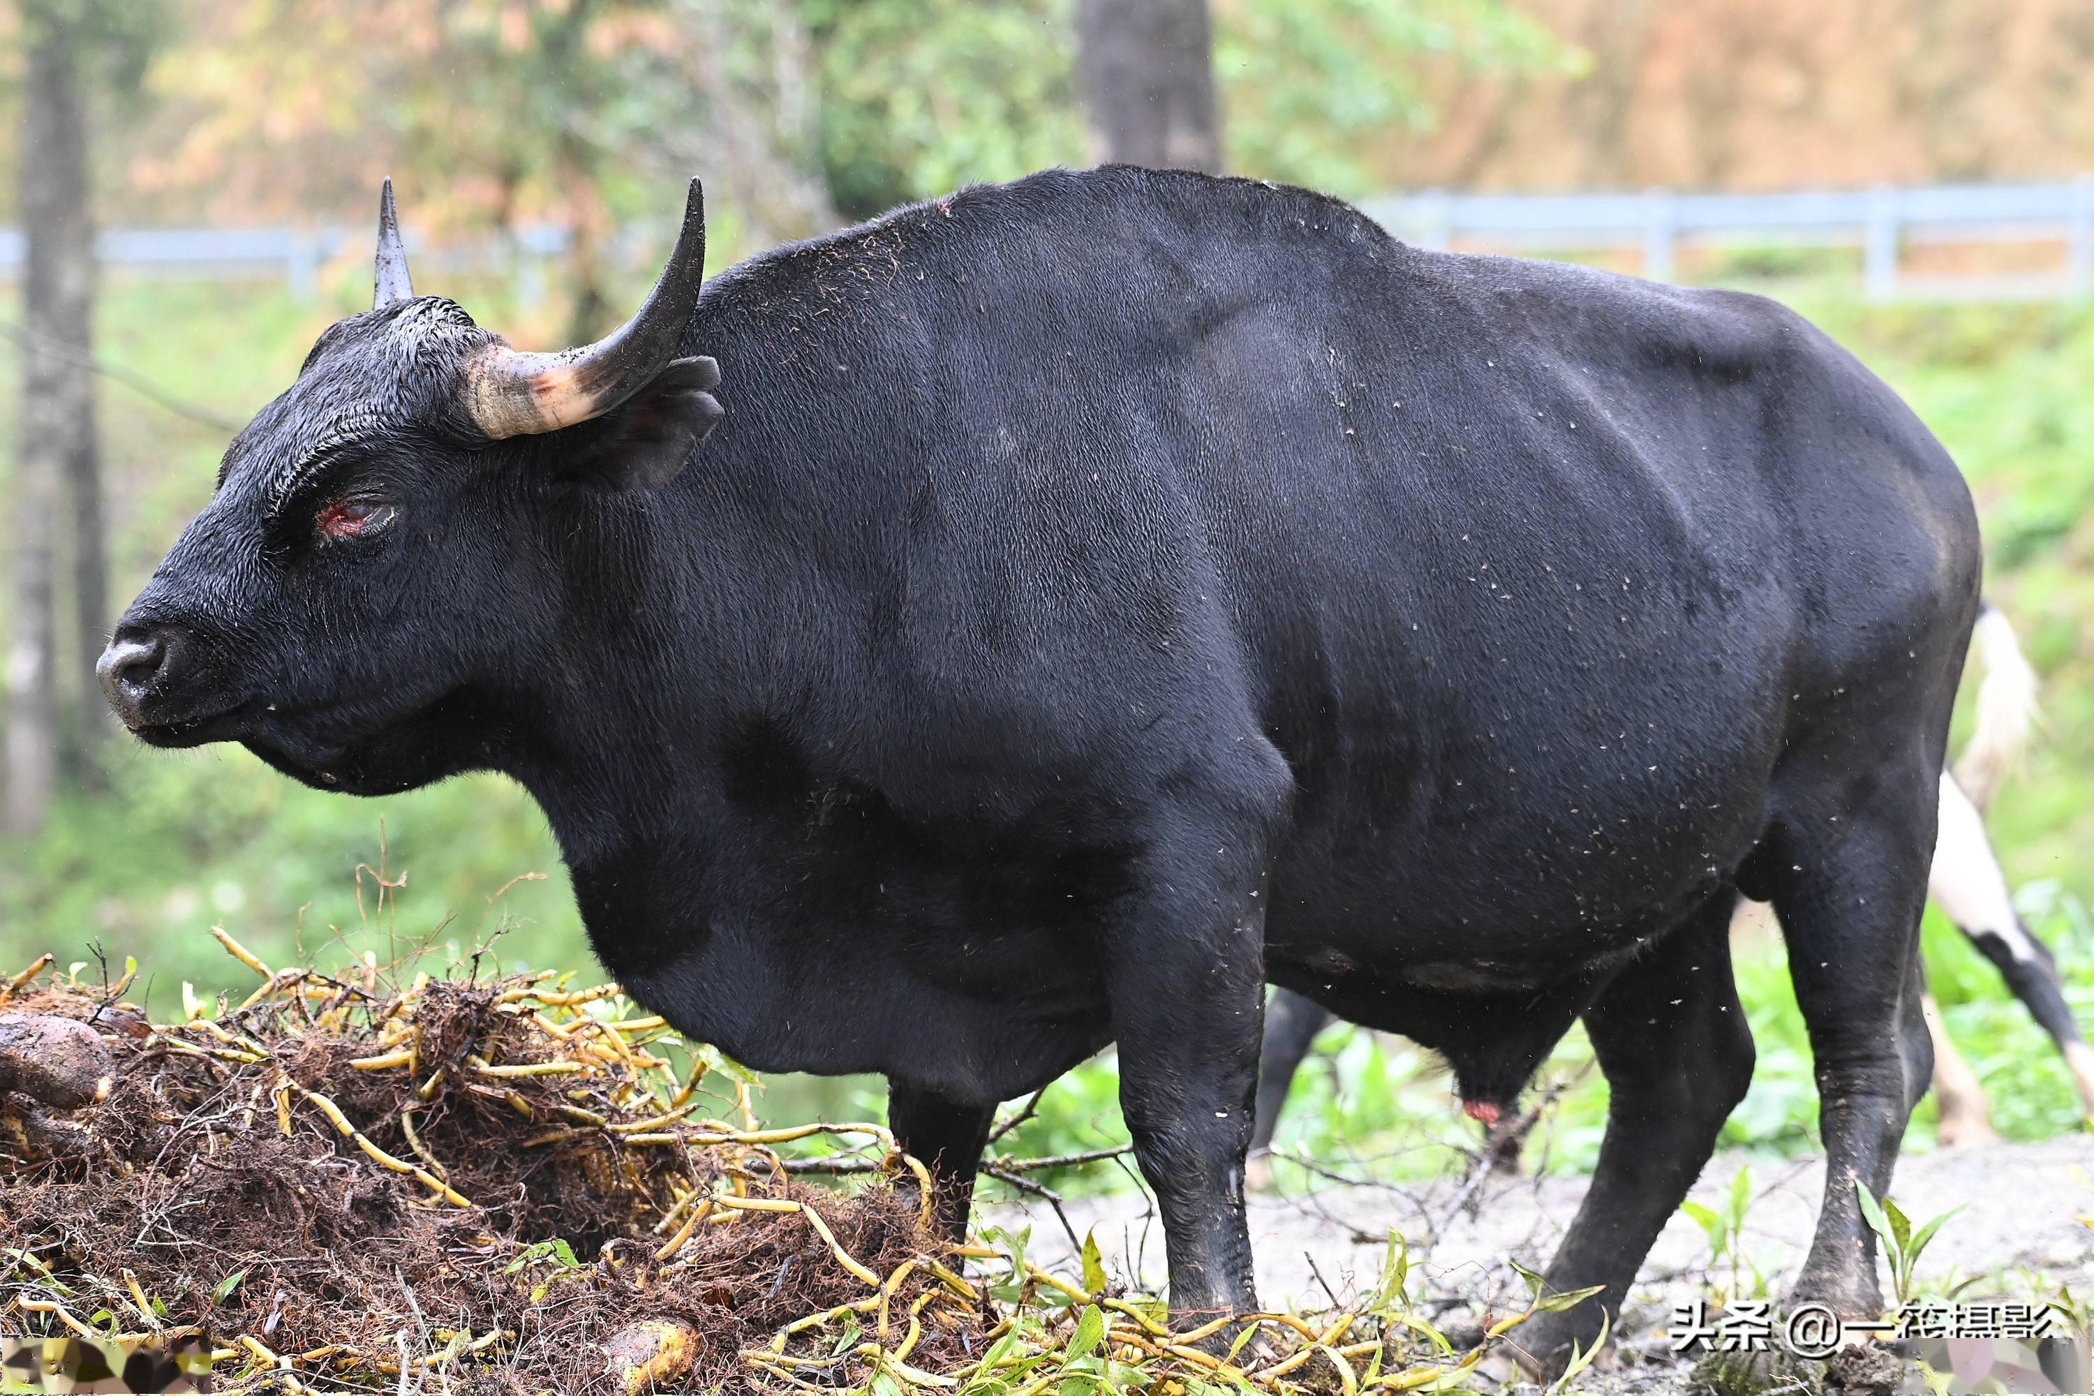
[[[1428,190],[1361,205],[1397,237],[1424,247],[1493,251],[1635,253],[1640,270],[1671,280],[1684,251],[1753,247],[1859,247],[1874,299],[2069,299],[2094,293],[2094,176],[2056,184],[1937,184],[1784,195],[1455,195]],[[643,251],[643,230],[618,239]],[[96,239],[109,266],[147,276],[281,276],[308,297],[322,268],[369,243],[346,228],[113,228]],[[1903,249],[1924,245],[2058,243],[2054,272],[2029,276],[1912,276]],[[565,228],[530,224],[484,243],[421,249],[417,266],[511,274],[517,295],[544,293],[544,264],[567,247]],[[0,230],[0,278],[21,274],[23,239]]]

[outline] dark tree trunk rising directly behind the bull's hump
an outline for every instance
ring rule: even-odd
[[[1078,0],[1076,82],[1099,161],[1221,170],[1206,0]]]

